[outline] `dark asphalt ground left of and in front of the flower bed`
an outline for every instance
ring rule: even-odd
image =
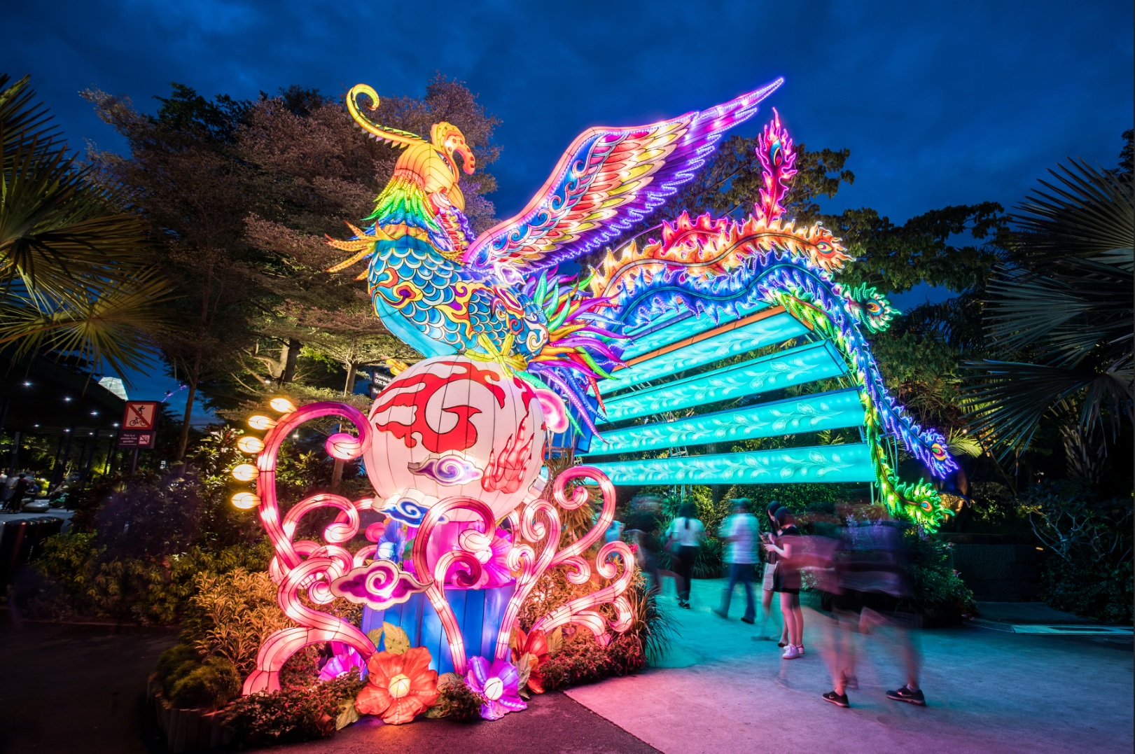
[[[0,611],[0,754],[146,754],[163,752],[144,704],[146,677],[177,640],[170,629],[14,625]],[[385,726],[368,718],[335,738],[277,746],[287,754],[600,754],[655,752],[634,736],[558,693],[493,723],[419,719]]]

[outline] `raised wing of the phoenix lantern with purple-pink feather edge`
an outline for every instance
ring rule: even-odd
[[[672,120],[585,131],[528,207],[481,234],[464,263],[535,271],[611,241],[692,179],[725,131],[783,81]]]

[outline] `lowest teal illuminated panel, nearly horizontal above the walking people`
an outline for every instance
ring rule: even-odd
[[[866,443],[592,463],[616,485],[874,481]]]

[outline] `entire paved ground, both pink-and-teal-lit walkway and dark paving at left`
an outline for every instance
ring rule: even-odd
[[[928,706],[891,702],[902,682],[885,644],[867,645],[851,709],[831,688],[822,614],[805,609],[807,654],[780,659],[774,642],[711,612],[720,581],[695,581],[693,610],[659,668],[536,697],[493,723],[356,723],[330,740],[264,749],[287,754],[511,754],[532,752],[1129,752],[1129,639],[1033,636],[973,627],[927,630],[922,686]],[[740,596],[740,595],[739,595]],[[1019,615],[1014,615],[1017,619]],[[176,638],[165,629],[12,626],[0,613],[0,753],[160,752],[146,675]],[[777,680],[779,679],[779,680]]]

